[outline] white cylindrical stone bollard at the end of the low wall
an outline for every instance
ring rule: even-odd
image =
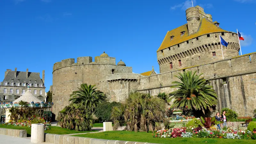
[[[31,124],[31,143],[44,142],[44,124]]]

